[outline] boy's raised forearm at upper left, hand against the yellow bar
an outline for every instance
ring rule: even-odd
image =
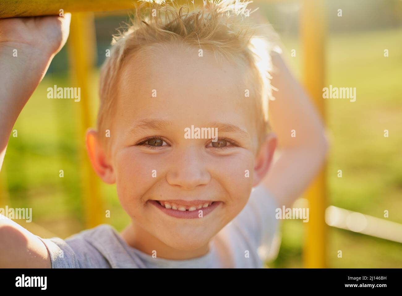
[[[70,14],[0,19],[0,169],[12,127],[67,40]]]

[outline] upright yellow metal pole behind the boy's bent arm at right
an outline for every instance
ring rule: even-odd
[[[325,56],[324,38],[326,34],[324,0],[304,0],[300,15],[301,43],[303,51],[304,85],[325,121],[324,87]],[[303,261],[307,268],[326,267],[326,177],[325,166],[307,189],[310,220],[306,223],[306,241]]]

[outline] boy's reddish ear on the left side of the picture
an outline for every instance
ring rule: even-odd
[[[86,150],[96,174],[105,183],[113,184],[116,181],[113,166],[105,153],[103,145],[99,142],[98,132],[94,129],[86,131]]]

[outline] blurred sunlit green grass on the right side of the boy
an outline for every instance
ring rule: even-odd
[[[328,203],[402,223],[402,30],[330,36],[326,42],[326,86],[356,87],[355,102],[327,99],[330,139]],[[287,59],[302,74],[299,42],[283,40]],[[384,49],[390,56],[384,57]],[[384,129],[389,137],[384,137]],[[342,178],[337,177],[341,169]],[[272,267],[302,267],[303,223],[282,222],[283,239]],[[343,258],[337,251],[343,251]],[[399,243],[328,227],[329,267],[402,267]]]

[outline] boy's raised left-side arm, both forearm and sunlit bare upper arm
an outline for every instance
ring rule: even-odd
[[[66,42],[69,26],[70,14],[0,19],[0,169],[12,127]],[[14,221],[0,218],[0,267],[50,267],[49,254],[39,238]]]

